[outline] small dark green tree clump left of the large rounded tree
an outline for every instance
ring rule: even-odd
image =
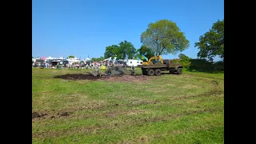
[[[120,42],[119,46],[118,45],[106,46],[104,57],[105,58],[117,57],[117,59],[124,59],[126,58],[126,54],[127,54],[128,58],[133,58],[136,52],[137,51],[131,42],[124,41],[124,42]]]

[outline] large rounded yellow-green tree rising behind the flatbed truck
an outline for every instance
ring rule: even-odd
[[[190,46],[176,23],[166,19],[150,23],[141,35],[141,42],[155,55],[177,54]]]

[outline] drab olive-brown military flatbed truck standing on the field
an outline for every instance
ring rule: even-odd
[[[138,65],[142,69],[143,75],[156,75],[162,74],[162,71],[170,71],[170,74],[182,74],[183,66],[181,64],[173,62],[171,59],[164,59],[163,64],[148,64],[148,65]]]

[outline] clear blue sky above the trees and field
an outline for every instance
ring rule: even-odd
[[[197,58],[194,42],[223,18],[223,0],[32,0],[32,56],[98,58],[124,40],[138,49],[150,22],[169,19],[190,41],[182,53]]]

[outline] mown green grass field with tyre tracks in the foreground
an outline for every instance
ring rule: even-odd
[[[33,143],[224,143],[223,73],[54,78],[62,74],[86,70],[32,69]]]

